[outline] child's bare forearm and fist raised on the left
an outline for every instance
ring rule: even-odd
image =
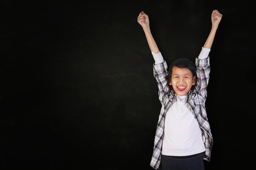
[[[148,41],[148,46],[149,46],[150,50],[153,51],[154,53],[159,53],[159,49],[157,47],[157,44],[156,44],[156,42],[153,38],[153,35],[150,31],[148,15],[146,15],[146,13],[141,11],[141,13],[139,13],[139,16],[137,18],[137,22],[143,28],[143,31],[146,35],[146,39]]]

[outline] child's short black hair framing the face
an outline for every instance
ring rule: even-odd
[[[173,61],[170,68],[169,68],[169,72],[168,72],[168,75],[167,75],[168,83],[171,82],[171,75],[172,75],[173,66],[176,66],[176,67],[179,67],[179,68],[188,68],[191,71],[193,77],[195,77],[195,81],[197,81],[198,77],[196,75],[196,66],[195,66],[195,64],[187,58],[180,58],[180,59],[177,59],[177,60]]]

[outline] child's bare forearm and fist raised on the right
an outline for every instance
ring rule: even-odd
[[[211,13],[211,23],[212,23],[211,32],[209,33],[209,36],[206,42],[204,43],[204,46],[203,46],[204,48],[211,49],[221,18],[222,18],[222,14],[219,13],[218,10],[213,10],[213,12]]]

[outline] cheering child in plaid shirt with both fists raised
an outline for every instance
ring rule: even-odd
[[[150,31],[148,15],[139,13],[155,60],[153,74],[162,104],[155,134],[150,166],[159,170],[204,170],[203,159],[210,161],[213,137],[207,119],[205,101],[209,82],[209,52],[222,14],[213,10],[211,31],[195,64],[188,59],[175,60],[167,71]]]

